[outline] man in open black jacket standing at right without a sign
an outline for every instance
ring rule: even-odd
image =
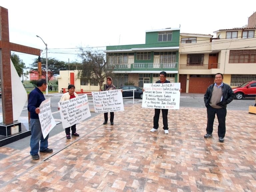
[[[215,114],[217,114],[219,142],[224,142],[226,133],[226,107],[235,98],[235,93],[228,84],[223,83],[223,75],[221,73],[215,75],[214,81],[215,83],[207,88],[204,95],[204,103],[207,108],[207,128],[204,138],[212,137],[213,122]]]

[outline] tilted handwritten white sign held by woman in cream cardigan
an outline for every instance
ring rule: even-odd
[[[87,95],[58,102],[63,129],[91,116]]]

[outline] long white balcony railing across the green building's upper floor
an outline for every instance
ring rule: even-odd
[[[143,68],[176,68],[177,63],[127,63],[127,64],[107,64],[107,69],[143,69]]]

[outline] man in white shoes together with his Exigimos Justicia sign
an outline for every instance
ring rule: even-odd
[[[159,116],[162,110],[163,129],[165,134],[168,131],[168,109],[179,109],[180,105],[180,83],[170,83],[166,80],[167,73],[160,72],[160,80],[156,83],[144,84],[142,107],[154,108],[154,126],[150,132],[158,131]]]

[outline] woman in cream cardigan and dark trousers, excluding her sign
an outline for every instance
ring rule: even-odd
[[[78,97],[78,95],[75,93],[75,86],[74,85],[69,85],[68,86],[68,92],[64,93],[62,95],[62,97],[60,98],[60,101],[65,101],[65,100],[69,100],[72,98]],[[58,107],[58,109],[60,110],[60,108]],[[79,134],[76,133],[76,124],[71,126],[71,131],[72,131],[72,136],[76,136],[78,137]],[[70,137],[70,127],[65,128],[65,132],[66,132],[66,137],[67,139],[71,139]]]

